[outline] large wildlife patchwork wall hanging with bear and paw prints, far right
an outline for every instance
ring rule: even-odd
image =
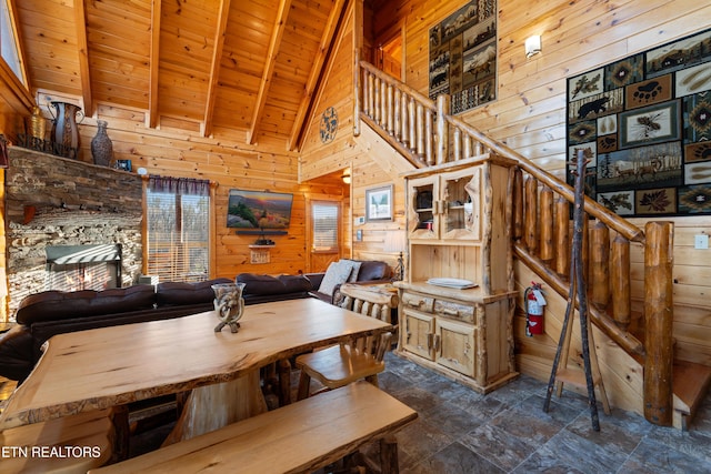
[[[568,79],[569,163],[578,150],[620,215],[711,214],[711,30]]]

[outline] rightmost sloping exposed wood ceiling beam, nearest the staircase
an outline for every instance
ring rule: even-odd
[[[301,147],[301,141],[303,140],[303,135],[306,134],[307,129],[306,118],[309,110],[312,110],[317,102],[317,94],[314,94],[314,92],[317,90],[317,87],[319,85],[319,79],[324,77],[329,51],[331,51],[332,54],[338,51],[338,48],[331,47],[333,43],[333,38],[338,31],[339,21],[346,8],[346,0],[336,0],[336,2],[333,3],[333,8],[331,9],[331,14],[329,14],[328,22],[326,24],[326,28],[323,29],[323,34],[321,36],[319,51],[313,61],[313,67],[309,72],[309,79],[304,88],[303,98],[301,99],[301,103],[299,104],[297,118],[293,122],[293,128],[291,129],[291,133],[289,135],[289,141],[287,143],[287,150],[289,151]]]

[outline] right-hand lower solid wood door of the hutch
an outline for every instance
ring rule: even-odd
[[[453,371],[474,376],[474,326],[438,319],[434,330],[434,361]]]

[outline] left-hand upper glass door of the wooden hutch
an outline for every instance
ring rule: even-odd
[[[408,231],[411,239],[439,239],[439,177],[408,180]]]

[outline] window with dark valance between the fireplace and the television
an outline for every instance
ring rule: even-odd
[[[147,192],[148,274],[197,282],[210,275],[208,181],[150,177]]]

